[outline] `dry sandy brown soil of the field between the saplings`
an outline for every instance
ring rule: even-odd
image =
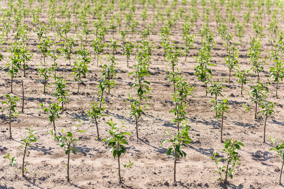
[[[5,6],[5,1],[2,2],[2,6]],[[37,2],[35,3],[35,6]],[[27,5],[28,6],[28,5]],[[200,8],[200,15],[202,15],[202,6]],[[246,9],[246,8],[244,8]],[[115,9],[117,10],[117,8]],[[139,18],[139,14],[142,10],[142,6],[137,6],[136,18]],[[149,9],[151,10],[151,9]],[[42,14],[41,20],[47,22],[46,9]],[[224,8],[221,9],[224,14]],[[218,36],[216,29],[216,22],[213,20],[213,12],[211,13],[210,28],[214,31],[214,38],[217,41],[216,46],[212,50],[212,62],[216,64],[216,67],[211,67],[212,75],[218,81],[221,81],[221,77],[228,76],[228,70],[224,62],[224,56],[226,56],[226,47],[222,46],[221,38]],[[149,11],[148,20],[153,18],[152,11]],[[239,19],[243,20],[241,12]],[[92,17],[88,17],[90,22],[93,22]],[[58,18],[60,19],[60,18]],[[73,21],[74,18],[72,17]],[[253,20],[253,15],[251,15]],[[279,19],[280,20],[280,19]],[[142,22],[141,20],[139,22]],[[31,18],[29,17],[26,23],[31,26]],[[171,39],[175,40],[178,45],[182,44],[181,26],[183,22],[179,21],[176,28],[171,31]],[[267,15],[263,19],[263,25],[269,24]],[[122,22],[122,27],[125,27],[125,21]],[[281,28],[281,26],[279,26]],[[66,170],[64,165],[67,163],[67,155],[64,151],[56,145],[56,142],[52,140],[51,136],[47,134],[53,125],[47,118],[44,118],[44,113],[39,108],[39,103],[51,103],[56,102],[57,98],[52,94],[54,92],[54,86],[51,85],[46,94],[43,94],[43,83],[39,77],[37,66],[40,61],[43,61],[38,47],[37,36],[30,31],[29,37],[31,52],[34,52],[34,57],[28,64],[27,77],[23,77],[23,71],[20,71],[18,78],[14,79],[13,90],[14,93],[10,95],[19,96],[20,101],[18,111],[21,111],[22,104],[22,87],[21,80],[24,84],[25,103],[24,113],[19,113],[19,116],[12,121],[12,136],[9,137],[9,120],[2,113],[0,120],[0,188],[9,189],[64,189],[64,188],[84,188],[84,189],[97,189],[97,188],[283,188],[278,186],[281,158],[275,154],[274,151],[270,151],[272,145],[268,139],[271,135],[272,138],[278,138],[284,140],[283,129],[283,83],[281,82],[278,87],[279,98],[275,97],[276,84],[271,83],[268,87],[270,93],[267,99],[274,102],[275,114],[268,120],[266,128],[266,141],[263,143],[263,130],[264,119],[261,117],[259,120],[255,120],[254,113],[245,112],[245,108],[241,106],[247,102],[250,104],[247,92],[250,85],[245,85],[245,92],[241,96],[241,86],[237,83],[236,77],[232,77],[231,82],[225,83],[227,89],[224,89],[224,97],[228,97],[230,104],[229,114],[225,114],[224,120],[224,136],[225,139],[235,139],[242,142],[245,147],[239,150],[239,156],[241,164],[237,166],[233,179],[229,179],[228,184],[224,185],[220,181],[217,181],[216,167],[213,165],[213,160],[209,157],[212,156],[212,151],[216,150],[220,156],[226,156],[222,149],[224,145],[220,143],[220,125],[221,120],[216,119],[215,112],[213,112],[210,94],[205,96],[205,86],[203,82],[198,81],[197,76],[194,75],[194,65],[196,61],[194,56],[197,56],[198,49],[201,47],[201,37],[198,34],[199,29],[202,28],[202,20],[199,18],[197,26],[193,27],[192,33],[196,34],[195,46],[196,49],[190,51],[190,57],[185,61],[185,56],[179,57],[178,67],[180,73],[187,79],[188,83],[196,90],[193,91],[191,97],[187,102],[189,108],[187,108],[187,118],[191,124],[189,135],[193,140],[193,144],[188,145],[184,151],[187,153],[186,158],[179,158],[177,163],[177,183],[173,182],[173,165],[174,159],[167,156],[168,144],[160,147],[166,130],[170,130],[171,135],[177,132],[177,127],[170,124],[174,118],[173,114],[169,113],[174,107],[171,100],[171,94],[173,93],[173,86],[166,78],[167,73],[165,70],[169,69],[166,66],[166,62],[163,61],[163,48],[156,49],[156,52],[152,56],[152,64],[149,69],[150,77],[147,77],[147,81],[151,83],[150,107],[149,110],[142,115],[142,119],[139,120],[139,137],[136,138],[136,129],[134,119],[129,118],[130,105],[125,102],[127,94],[131,92],[135,94],[135,89],[130,89],[130,85],[134,82],[134,79],[129,76],[128,73],[132,72],[132,68],[127,68],[126,57],[123,56],[123,49],[121,43],[121,37],[118,31],[114,36],[119,39],[119,50],[116,53],[117,57],[117,75],[115,79],[116,87],[111,89],[110,94],[105,95],[107,103],[106,114],[109,117],[105,117],[99,123],[100,137],[109,137],[109,126],[105,124],[106,121],[113,119],[115,123],[125,121],[127,128],[126,131],[131,133],[131,136],[127,136],[129,145],[127,145],[127,152],[121,156],[121,162],[127,163],[129,160],[134,162],[134,166],[130,168],[121,168],[121,175],[123,183],[119,183],[117,171],[117,159],[114,159],[109,147],[105,142],[96,139],[97,131],[94,123],[88,123],[87,114],[88,105],[90,102],[97,102],[99,97],[97,96],[97,81],[100,79],[100,69],[97,67],[96,59],[93,59],[90,64],[89,72],[86,78],[83,78],[83,83],[80,85],[80,94],[77,94],[77,82],[73,81],[71,75],[72,66],[69,66],[68,61],[64,61],[64,57],[60,57],[58,60],[58,73],[64,74],[68,83],[69,104],[65,104],[65,112],[61,112],[61,118],[56,120],[56,131],[61,129],[72,130],[72,125],[77,124],[77,118],[84,121],[84,124],[80,127],[85,133],[78,133],[77,136],[81,139],[78,141],[79,152],[76,155],[71,155],[70,160],[70,177],[71,183],[67,182]],[[234,28],[228,27],[230,31],[234,32]],[[155,43],[155,46],[159,45],[158,36],[159,27],[156,26],[154,33],[151,34],[150,39]],[[93,28],[91,27],[91,30]],[[140,41],[139,33],[142,27],[138,26],[138,32],[134,34],[135,38],[129,39],[132,42]],[[270,49],[270,43],[268,42],[269,32],[265,28],[266,37],[262,41],[261,56],[264,58],[268,55],[267,50]],[[14,31],[8,36],[8,41],[13,40]],[[75,31],[71,30],[70,35],[74,35]],[[50,33],[51,39],[54,36],[54,32]],[[254,36],[251,29],[251,21],[245,27],[245,37],[243,38],[242,47],[240,48],[239,64],[244,68],[249,68],[250,60],[248,58],[248,49],[250,47],[250,38]],[[94,56],[93,48],[90,47],[93,39],[93,34],[90,35],[87,42],[84,43],[89,48],[92,58]],[[111,34],[108,33],[105,37],[106,42],[109,43]],[[237,41],[237,38],[234,37]],[[1,63],[4,65],[8,61],[9,53],[5,48],[8,48],[9,44],[5,43],[2,46],[2,54],[4,61]],[[72,56],[71,62],[76,58],[76,54]],[[104,53],[111,53],[109,48],[105,49]],[[106,56],[104,56],[106,59]],[[263,59],[262,59],[263,60]],[[48,65],[51,65],[51,59],[47,58]],[[260,73],[261,81],[267,82],[269,76],[269,67],[273,65],[272,61],[267,61],[268,65],[264,66],[265,72]],[[134,56],[130,58],[130,66],[136,64]],[[252,77],[256,79],[256,77]],[[0,99],[6,100],[5,94],[9,94],[10,91],[10,77],[5,76],[5,71],[1,71],[0,77]],[[54,80],[49,80],[51,84]],[[252,109],[254,104],[250,104]],[[4,105],[0,105],[4,108]],[[32,144],[29,148],[29,156],[26,157],[26,168],[31,172],[37,172],[33,174],[26,172],[25,177],[21,177],[21,172],[14,172],[14,167],[9,166],[8,159],[4,158],[7,153],[10,156],[17,157],[18,163],[21,162],[23,156],[23,148],[19,148],[20,140],[25,136],[26,130],[24,128],[31,125],[35,126],[35,130],[38,132],[35,134],[37,142]],[[284,180],[282,181],[284,182]]]

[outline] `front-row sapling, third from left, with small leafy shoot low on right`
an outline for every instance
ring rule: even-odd
[[[121,121],[121,129],[119,132],[119,128],[117,128],[117,124],[113,123],[113,120],[110,120],[110,122],[106,122],[111,129],[109,130],[109,134],[111,135],[111,137],[105,138],[103,141],[106,141],[108,143],[108,146],[111,147],[110,152],[112,152],[113,157],[115,159],[115,157],[118,158],[118,176],[119,176],[119,182],[121,181],[121,176],[120,176],[120,156],[121,154],[125,154],[126,149],[124,147],[124,145],[128,145],[127,140],[125,139],[125,135],[129,135],[129,132],[122,132],[122,128],[126,127],[124,126],[125,123],[123,121]],[[128,165],[127,167],[130,167],[133,165],[133,163],[131,163],[129,161],[130,165]],[[123,163],[123,166],[126,167],[126,164]]]

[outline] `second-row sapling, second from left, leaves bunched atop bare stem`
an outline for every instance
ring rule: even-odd
[[[58,106],[59,103],[51,103],[51,104],[48,104],[48,107],[47,108],[43,108],[44,107],[44,104],[43,103],[39,103],[39,106],[41,108],[41,110],[44,111],[45,115],[44,117],[47,117],[49,118],[49,121],[50,123],[53,123],[53,131],[54,131],[54,136],[56,135],[55,134],[55,123],[54,121],[56,120],[56,118],[60,118],[59,116],[59,112],[60,112],[60,109],[62,108],[61,106]]]

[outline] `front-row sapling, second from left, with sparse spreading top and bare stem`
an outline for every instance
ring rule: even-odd
[[[84,132],[81,130],[78,130],[79,125],[82,124],[82,120],[78,119],[79,124],[78,125],[74,125],[73,128],[75,129],[75,134],[72,134],[72,132],[65,132],[62,129],[62,134],[61,135],[55,135],[55,130],[51,130],[49,134],[52,135],[52,138],[58,143],[57,145],[59,145],[64,151],[65,154],[68,155],[68,159],[67,159],[67,165],[65,165],[64,167],[67,166],[67,181],[70,182],[69,179],[69,159],[70,159],[70,152],[72,152],[73,154],[76,154],[76,152],[78,152],[78,149],[76,149],[76,141],[80,140],[79,138],[75,138],[75,135],[77,132]]]

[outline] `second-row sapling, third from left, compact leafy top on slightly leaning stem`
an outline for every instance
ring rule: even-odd
[[[88,118],[90,119],[90,121],[95,121],[96,123],[98,140],[100,140],[98,123],[100,122],[101,117],[104,117],[104,116],[108,117],[108,115],[103,114],[106,109],[105,103],[100,102],[99,104],[95,102],[90,103],[89,105],[90,110],[87,112]]]

